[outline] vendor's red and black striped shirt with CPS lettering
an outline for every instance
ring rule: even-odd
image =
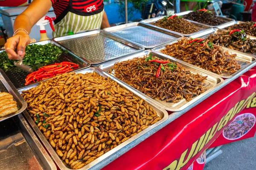
[[[65,17],[70,11],[72,13],[90,16],[103,11],[103,0],[51,0],[54,13],[56,14],[55,23]]]

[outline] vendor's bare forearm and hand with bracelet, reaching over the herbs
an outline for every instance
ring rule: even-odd
[[[14,22],[14,31],[19,28],[23,28],[30,33],[31,28],[49,11],[52,6],[51,0],[33,0],[33,2],[18,15]],[[9,59],[17,59],[15,48],[17,47],[17,53],[20,57],[24,57],[25,48],[30,42],[30,37],[25,31],[19,30],[19,32],[7,40],[5,44],[6,52]]]

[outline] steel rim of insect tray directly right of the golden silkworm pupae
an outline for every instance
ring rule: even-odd
[[[123,57],[121,59],[115,59],[111,62],[107,62],[105,64],[100,65],[99,68],[102,69],[103,71],[108,72],[109,70],[111,70],[113,68],[113,65],[116,62],[127,61],[127,60],[133,59],[133,58],[140,58],[140,57],[147,56],[149,54],[152,54],[153,56],[159,57],[161,59],[170,59],[171,62],[177,62],[193,74],[199,73],[203,76],[208,76],[207,80],[205,81],[205,84],[206,84],[205,87],[207,87],[209,89],[207,91],[205,91],[203,94],[201,94],[199,96],[196,96],[196,97],[193,97],[193,99],[189,102],[187,102],[185,99],[182,99],[182,100],[180,100],[180,102],[176,102],[176,103],[174,103],[174,102],[165,102],[165,101],[161,101],[159,99],[152,99],[152,98],[146,96],[145,94],[143,94],[142,92],[136,90],[135,88],[132,88],[134,91],[137,91],[137,93],[139,93],[139,94],[141,94],[145,97],[148,97],[148,102],[149,103],[154,103],[154,104],[158,105],[160,108],[164,108],[167,111],[181,111],[181,110],[185,109],[189,105],[192,105],[194,102],[199,100],[201,97],[209,94],[213,89],[217,88],[219,85],[221,85],[224,82],[223,79],[221,79],[218,76],[215,76],[214,74],[212,74],[209,71],[205,71],[201,68],[194,68],[191,65],[188,65],[186,62],[181,62],[177,59],[174,59],[174,58],[171,58],[171,57],[166,57],[166,56],[163,56],[161,54],[157,54],[156,52],[149,51],[149,50],[143,51],[143,52],[138,53],[138,54],[134,54],[134,55],[129,56],[129,57]]]

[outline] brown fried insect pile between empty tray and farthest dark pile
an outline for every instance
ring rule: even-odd
[[[164,17],[163,20],[158,20],[156,22],[150,23],[154,26],[159,26],[161,28],[169,29],[171,31],[179,32],[181,34],[192,34],[200,30],[198,26],[187,20],[184,20],[180,16],[169,19]]]

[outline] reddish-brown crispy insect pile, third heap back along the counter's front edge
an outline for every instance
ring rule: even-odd
[[[236,54],[224,51],[221,46],[214,45],[209,40],[198,43],[191,41],[182,38],[172,45],[167,45],[161,52],[216,74],[233,74],[241,68],[235,60]]]

